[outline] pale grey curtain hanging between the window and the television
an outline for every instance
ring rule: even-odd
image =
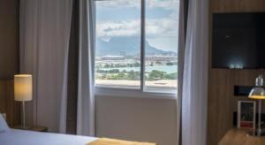
[[[182,145],[206,145],[208,0],[189,0],[182,94]]]

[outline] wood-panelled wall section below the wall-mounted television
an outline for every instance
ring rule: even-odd
[[[208,145],[215,145],[230,130],[233,111],[239,100],[246,96],[234,96],[235,85],[254,86],[254,80],[264,70],[211,69],[208,95]],[[265,105],[265,102],[263,102]],[[262,109],[265,112],[265,108]]]

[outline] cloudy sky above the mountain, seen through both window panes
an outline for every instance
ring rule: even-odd
[[[179,0],[146,0],[146,33],[160,50],[178,49]],[[96,34],[111,37],[140,36],[140,0],[96,1]]]

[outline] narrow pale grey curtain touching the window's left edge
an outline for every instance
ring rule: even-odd
[[[79,0],[79,88],[77,134],[95,136],[94,1]]]

